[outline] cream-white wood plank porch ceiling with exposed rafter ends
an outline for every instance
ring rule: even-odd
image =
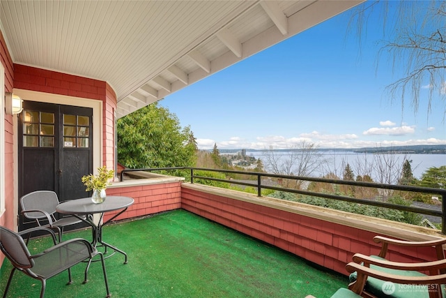
[[[0,1],[13,62],[107,81],[118,118],[364,0]]]

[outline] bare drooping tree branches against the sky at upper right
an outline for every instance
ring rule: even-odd
[[[409,96],[416,113],[421,90],[429,88],[428,116],[433,101],[444,106],[443,113],[446,116],[446,40],[443,38],[446,32],[446,1],[399,1],[396,4],[398,13],[394,18],[395,27],[393,31],[386,32],[390,3],[376,0],[360,6],[352,16],[350,25],[356,25],[361,40],[367,31],[369,13],[376,8],[382,9],[383,35],[389,34],[392,41],[381,40],[378,57],[391,54],[394,70],[402,69],[405,72],[405,75],[385,88],[390,94],[390,100],[400,98],[403,110],[406,97]]]

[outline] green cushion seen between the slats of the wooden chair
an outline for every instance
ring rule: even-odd
[[[371,255],[372,258],[378,260],[385,260],[378,257],[377,255]],[[376,269],[389,274],[396,274],[401,276],[426,276],[419,271],[408,271],[408,270],[397,270],[383,268],[376,265],[370,265],[371,269]],[[349,276],[350,282],[356,281],[357,273],[353,272]],[[435,285],[433,285],[435,286]],[[446,297],[445,285],[441,285],[441,290],[443,292],[443,297]],[[399,283],[389,283],[381,281],[378,278],[369,277],[367,278],[367,283],[365,284],[364,290],[369,292],[376,297],[386,297],[386,298],[429,298],[429,289],[426,285],[403,285]]]

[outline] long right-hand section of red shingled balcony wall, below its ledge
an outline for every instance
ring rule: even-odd
[[[373,241],[376,232],[185,187],[181,196],[181,207],[187,211],[341,274],[347,274],[345,266],[354,253],[378,255],[380,251]],[[425,262],[436,258],[433,248],[394,249],[390,246],[387,253],[387,258],[394,261]]]

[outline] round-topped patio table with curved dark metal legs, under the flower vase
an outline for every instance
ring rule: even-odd
[[[62,202],[61,204],[57,205],[56,211],[61,214],[71,214],[73,216],[76,216],[81,221],[84,221],[85,223],[91,225],[91,228],[93,229],[93,246],[103,246],[105,248],[105,254],[107,254],[107,248],[112,248],[114,250],[114,253],[122,253],[125,256],[124,264],[127,264],[127,253],[116,248],[116,246],[107,244],[105,241],[102,240],[102,227],[104,225],[107,225],[107,223],[113,221],[114,218],[123,214],[123,212],[127,210],[127,208],[133,204],[133,202],[134,200],[132,198],[107,195],[105,201],[100,204],[93,203],[91,198],[82,198]],[[117,214],[114,214],[112,218],[109,218],[108,221],[102,223],[102,218],[104,217],[105,212],[117,210],[120,211]],[[93,221],[93,214],[100,214],[99,220]],[[108,256],[112,256],[114,255],[114,253]]]

